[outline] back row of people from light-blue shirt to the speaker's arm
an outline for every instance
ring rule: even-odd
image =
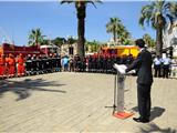
[[[114,63],[118,64],[131,64],[134,58],[132,54],[128,57],[116,57],[116,55],[88,55],[84,59],[79,55],[64,57],[61,59],[63,71],[71,72],[96,72],[96,73],[114,73]]]

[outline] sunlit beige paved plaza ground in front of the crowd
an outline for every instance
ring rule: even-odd
[[[112,115],[114,75],[58,72],[0,81],[0,133],[176,133],[177,80],[154,79],[147,124]],[[125,108],[137,113],[136,76],[125,81]]]

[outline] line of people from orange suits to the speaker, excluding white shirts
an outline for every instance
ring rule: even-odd
[[[113,64],[129,64],[133,61],[132,54],[126,58],[117,57],[27,57],[20,54],[17,59],[9,54],[0,57],[0,78],[22,76],[37,73],[49,73],[54,71],[75,71],[75,72],[104,72],[113,73]],[[63,68],[63,69],[62,69]]]

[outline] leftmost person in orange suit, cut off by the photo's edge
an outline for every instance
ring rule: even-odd
[[[0,79],[6,76],[6,55],[0,55]]]

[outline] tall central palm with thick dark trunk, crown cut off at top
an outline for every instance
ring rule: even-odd
[[[95,2],[101,2],[100,0],[62,0],[63,3],[74,3],[77,17],[77,54],[80,57],[85,55],[85,17],[86,17],[86,6],[92,3],[95,7]]]

